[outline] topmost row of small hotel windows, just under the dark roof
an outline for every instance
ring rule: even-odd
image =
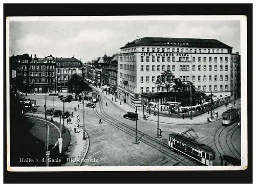
[[[176,49],[176,50],[175,50]],[[160,53],[160,52],[162,52],[162,53],[165,53],[166,51],[165,51],[165,48],[162,48],[161,50],[160,50],[160,48],[142,48],[142,52],[145,52],[145,50],[146,50],[146,52],[157,52],[157,53]],[[194,49],[194,53],[197,53],[197,50],[198,50],[198,52],[199,53],[202,53],[202,49]],[[167,48],[167,53],[170,53],[170,52],[172,52],[172,53],[188,53],[188,48],[186,48],[186,49],[184,49],[184,48]],[[212,50],[210,50],[210,49],[208,49],[207,50],[207,52],[208,53],[215,53],[215,49],[212,49]],[[189,53],[193,53],[193,49],[189,49]],[[206,53],[206,49],[203,49],[203,53]],[[219,53],[219,49],[217,49],[216,50],[216,53]],[[220,53],[223,53],[223,50],[220,50]]]

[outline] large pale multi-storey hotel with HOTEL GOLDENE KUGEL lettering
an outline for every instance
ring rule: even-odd
[[[236,98],[238,53],[216,39],[144,37],[127,43],[118,55],[118,97],[141,107],[142,92],[162,92],[157,76],[167,69],[196,89],[220,99]]]

